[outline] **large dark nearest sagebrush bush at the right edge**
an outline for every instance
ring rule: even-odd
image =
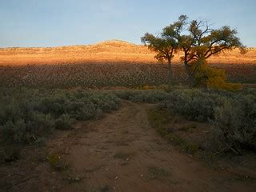
[[[246,95],[225,102],[214,110],[213,150],[242,154],[256,151],[256,99]]]

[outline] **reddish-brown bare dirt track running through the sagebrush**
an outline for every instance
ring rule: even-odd
[[[0,166],[2,191],[255,191],[255,181],[213,170],[179,152],[151,128],[149,104],[125,102],[105,118],[78,122],[46,146]],[[54,170],[47,154],[59,154]],[[65,166],[64,166],[65,165]],[[255,173],[254,173],[255,174]]]

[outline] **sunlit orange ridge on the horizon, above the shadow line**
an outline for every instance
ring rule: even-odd
[[[0,49],[1,66],[21,66],[33,64],[78,64],[92,62],[110,63],[156,63],[154,52],[146,46],[120,40],[99,42],[85,46],[2,48]],[[180,62],[182,53],[174,57]],[[239,50],[232,50],[210,58],[210,63],[218,64],[256,64],[256,48],[250,48],[242,55]]]

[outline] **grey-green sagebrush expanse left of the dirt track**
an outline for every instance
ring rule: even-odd
[[[75,120],[100,118],[119,106],[120,99],[106,92],[2,89],[1,140],[6,145],[34,143],[54,129],[70,129]]]

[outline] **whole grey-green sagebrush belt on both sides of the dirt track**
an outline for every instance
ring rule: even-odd
[[[69,130],[76,120],[101,118],[105,112],[117,110],[121,99],[126,99],[131,102],[158,103],[167,112],[181,114],[193,121],[210,122],[213,128],[209,130],[210,138],[206,140],[207,149],[214,153],[229,151],[242,154],[242,150],[256,150],[255,95],[254,89],[236,92],[174,89],[166,92],[2,88],[0,142],[8,147],[37,145],[55,129]],[[162,119],[160,114],[154,113],[154,116]],[[161,134],[168,132],[165,128],[158,131]],[[168,135],[172,142],[182,142],[184,147],[189,143],[174,134]],[[6,159],[11,158],[13,157]]]

